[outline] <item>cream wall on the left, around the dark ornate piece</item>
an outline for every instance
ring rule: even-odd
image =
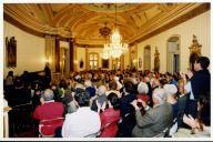
[[[40,71],[44,68],[44,38],[27,33],[14,26],[3,21],[3,40],[6,37],[16,37],[17,40],[17,68],[9,69],[6,64],[6,42],[3,41],[3,77],[8,71],[22,74],[24,70]]]

